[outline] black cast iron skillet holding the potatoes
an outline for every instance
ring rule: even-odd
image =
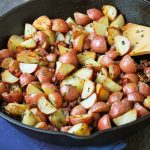
[[[125,15],[128,22],[150,26],[150,2],[144,0],[32,0],[16,7],[0,18],[0,49],[6,47],[6,42],[11,34],[21,35],[24,24],[26,22],[32,23],[40,15],[66,19],[68,16],[72,16],[75,11],[84,13],[92,7],[101,8],[103,4],[116,6]],[[150,122],[149,115],[121,127],[114,127],[104,132],[96,132],[87,137],[78,137],[62,132],[32,128],[21,124],[2,112],[0,112],[0,116],[30,136],[64,146],[110,143],[127,137],[140,129],[142,130]]]

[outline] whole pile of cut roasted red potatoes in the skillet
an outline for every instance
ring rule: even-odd
[[[114,6],[40,16],[0,51],[3,111],[23,124],[78,136],[148,115],[150,63],[131,57]]]

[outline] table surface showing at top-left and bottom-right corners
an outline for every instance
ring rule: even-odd
[[[0,0],[0,16],[13,7],[28,0]],[[149,150],[150,126],[125,139],[126,150]]]

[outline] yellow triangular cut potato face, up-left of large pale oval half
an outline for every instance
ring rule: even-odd
[[[40,94],[43,93],[40,89],[38,89],[36,86],[34,86],[33,84],[28,84],[27,88],[26,88],[26,94],[27,95],[31,95],[31,94]]]

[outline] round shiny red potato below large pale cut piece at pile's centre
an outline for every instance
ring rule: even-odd
[[[60,93],[66,101],[74,101],[79,97],[78,90],[71,85],[65,85],[60,88]]]

